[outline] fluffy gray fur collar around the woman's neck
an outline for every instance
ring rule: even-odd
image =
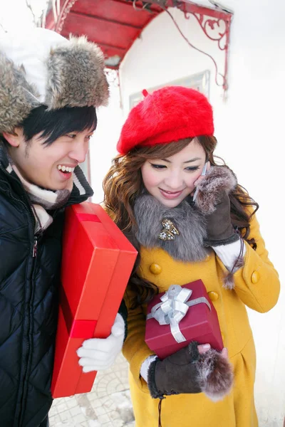
[[[207,256],[203,246],[206,237],[204,217],[187,201],[182,201],[176,208],[166,208],[153,196],[143,194],[135,201],[134,212],[138,223],[134,234],[142,246],[162,248],[172,258],[184,262],[201,261]],[[164,218],[170,219],[179,231],[173,240],[158,238]]]

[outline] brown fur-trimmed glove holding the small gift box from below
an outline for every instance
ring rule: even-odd
[[[150,364],[147,385],[152,398],[182,393],[204,392],[218,401],[232,388],[232,366],[214,349],[199,354],[197,342],[191,342],[164,360]]]

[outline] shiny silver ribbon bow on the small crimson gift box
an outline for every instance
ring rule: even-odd
[[[170,331],[175,341],[178,343],[186,341],[185,336],[180,331],[179,324],[189,307],[204,303],[211,310],[207,298],[199,297],[188,301],[191,295],[191,289],[182,288],[180,285],[171,285],[167,292],[160,297],[162,302],[158,302],[152,307],[151,312],[147,315],[147,320],[154,318],[160,325],[170,325]]]

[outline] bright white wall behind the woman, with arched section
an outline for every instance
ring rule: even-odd
[[[207,4],[207,0],[203,1]],[[194,51],[177,32],[169,16],[162,14],[150,23],[130,49],[120,68],[124,116],[129,96],[143,88],[168,83],[202,70],[211,71],[209,99],[214,107],[217,154],[237,173],[240,184],[259,202],[261,232],[269,255],[284,283],[284,0],[225,0],[234,9],[229,53],[229,91],[223,100],[221,88],[214,84],[214,67],[206,56]],[[186,20],[171,9],[177,23],[192,43],[214,55],[219,67],[223,56],[214,42],[205,38],[197,21]],[[118,107],[118,105],[117,105]],[[120,120],[106,110],[116,129],[108,151],[115,152]],[[115,119],[115,116],[117,117]],[[110,126],[112,126],[110,124]],[[107,130],[110,133],[110,129]],[[109,135],[108,133],[108,135]],[[101,134],[104,144],[106,138]],[[96,135],[98,138],[98,135]],[[110,154],[93,155],[94,164],[110,164]],[[92,153],[92,149],[91,149]],[[104,156],[104,157],[103,157]],[[269,283],[270,286],[270,283]],[[285,295],[271,312],[260,315],[249,310],[257,344],[256,401],[260,426],[281,427],[285,413]]]

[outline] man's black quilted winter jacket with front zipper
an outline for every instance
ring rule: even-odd
[[[52,403],[64,209],[35,237],[28,194],[7,166],[0,147],[0,426],[38,427]],[[87,194],[73,190],[68,204],[92,195],[83,180]]]

